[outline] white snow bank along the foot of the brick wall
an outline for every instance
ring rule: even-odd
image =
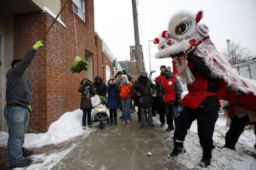
[[[56,145],[65,141],[68,141],[71,138],[78,137],[82,135],[84,138],[87,137],[92,131],[96,130],[95,128],[87,128],[82,130],[82,111],[77,109],[73,112],[64,113],[63,116],[59,118],[56,122],[53,122],[46,133],[29,133],[25,134],[25,143],[24,147],[42,147],[47,145]],[[0,133],[0,146],[7,145],[8,133]],[[59,150],[51,154],[40,154],[32,155],[31,159],[36,162],[31,164],[26,169],[51,169],[59,160],[61,160],[73,147],[77,145],[78,142],[73,143],[65,150]],[[24,168],[17,168],[24,169]]]

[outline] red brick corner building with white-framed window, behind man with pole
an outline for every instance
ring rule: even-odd
[[[14,8],[11,1],[18,7]],[[11,1],[0,3],[1,113],[6,105],[5,74],[11,61],[23,58],[27,50],[42,38],[55,18],[52,11],[56,15],[65,0],[59,4],[42,4],[38,0]],[[63,113],[79,108],[77,89],[82,78],[93,80],[96,75],[101,75],[106,79],[106,68],[110,72],[113,70],[113,57],[104,52],[102,40],[94,33],[93,3],[93,0],[69,0],[60,20],[49,31],[43,48],[38,50],[28,67],[27,76],[33,90],[30,132],[45,132]],[[70,67],[76,56],[89,62],[88,71],[71,73]],[[0,130],[6,131],[2,114],[0,121]]]

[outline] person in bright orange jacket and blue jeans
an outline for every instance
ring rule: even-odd
[[[129,82],[127,75],[123,74],[121,76],[121,83],[119,84],[119,96],[121,99],[121,107],[123,114],[122,124],[131,123],[131,86],[133,86],[133,83]]]

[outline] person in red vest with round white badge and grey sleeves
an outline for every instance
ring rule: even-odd
[[[173,118],[174,123],[176,123],[181,94],[182,87],[179,79],[177,79],[176,76],[172,74],[171,67],[167,67],[164,79],[162,80],[160,86],[160,96],[162,96],[162,100],[166,108],[166,117],[168,124],[168,128],[166,129],[166,131],[174,130]]]

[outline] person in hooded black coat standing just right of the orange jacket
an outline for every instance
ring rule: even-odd
[[[138,80],[136,80],[131,87],[133,94],[138,97],[138,106],[141,108],[141,128],[146,126],[146,109],[148,111],[148,125],[154,127],[152,120],[152,94],[155,93],[155,85],[151,82],[151,79],[147,78],[147,72],[142,71]]]

